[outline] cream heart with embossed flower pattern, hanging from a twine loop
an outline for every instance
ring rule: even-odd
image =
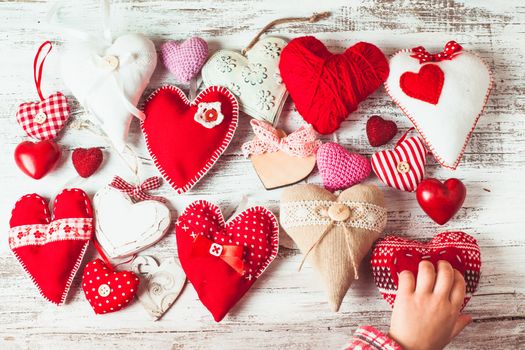
[[[207,86],[228,88],[244,113],[275,124],[288,96],[278,67],[285,46],[283,39],[265,37],[246,56],[220,50],[202,68],[202,80]]]

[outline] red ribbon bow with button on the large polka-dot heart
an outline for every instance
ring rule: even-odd
[[[239,275],[244,275],[243,247],[238,245],[218,244],[198,234],[193,242],[192,255],[215,256],[230,265]]]

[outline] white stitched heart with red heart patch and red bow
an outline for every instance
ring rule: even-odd
[[[436,160],[455,169],[492,89],[487,65],[453,41],[438,54],[403,50],[390,59],[385,87]]]

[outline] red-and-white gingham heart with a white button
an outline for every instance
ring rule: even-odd
[[[40,102],[25,102],[18,106],[18,124],[31,137],[39,140],[52,140],[69,118],[67,98],[55,92]]]

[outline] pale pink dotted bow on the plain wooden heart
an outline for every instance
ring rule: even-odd
[[[306,158],[315,154],[321,145],[321,141],[316,139],[317,135],[310,124],[284,137],[281,137],[280,132],[269,123],[253,119],[250,124],[255,137],[252,141],[242,145],[245,157],[250,154],[283,151],[293,157]]]

